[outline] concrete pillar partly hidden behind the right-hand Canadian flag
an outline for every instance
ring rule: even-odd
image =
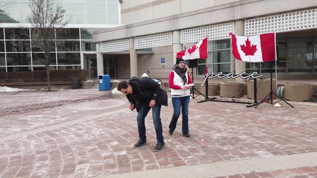
[[[244,36],[244,20],[237,20],[234,23],[235,35]],[[234,58],[235,59],[235,58]],[[235,59],[235,74],[240,74],[246,71],[246,63]],[[236,82],[245,82],[245,79],[236,78]]]

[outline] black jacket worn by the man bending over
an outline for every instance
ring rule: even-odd
[[[155,104],[167,106],[167,93],[159,87],[159,84],[149,77],[132,77],[128,84],[132,87],[132,94],[127,94],[130,103],[139,112],[141,103],[150,104],[152,99],[156,100]]]

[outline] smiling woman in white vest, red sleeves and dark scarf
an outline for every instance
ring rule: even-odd
[[[177,58],[176,64],[174,65],[173,70],[169,73],[168,77],[168,85],[171,89],[174,108],[174,114],[169,124],[169,134],[173,134],[180,115],[180,108],[182,108],[182,133],[186,137],[190,136],[188,134],[188,105],[190,99],[190,87],[188,84],[192,83],[193,82],[190,79],[184,59]]]

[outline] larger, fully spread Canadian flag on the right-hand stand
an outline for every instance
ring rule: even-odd
[[[236,36],[232,33],[232,53],[238,60],[246,62],[275,61],[275,34],[267,33],[251,37]]]

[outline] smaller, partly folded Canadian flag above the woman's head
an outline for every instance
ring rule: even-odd
[[[176,58],[180,57],[184,60],[197,58],[206,59],[208,57],[207,42],[208,40],[207,38],[205,38],[204,40],[198,42],[196,45],[193,45],[192,47],[182,50],[180,52],[177,52]]]

